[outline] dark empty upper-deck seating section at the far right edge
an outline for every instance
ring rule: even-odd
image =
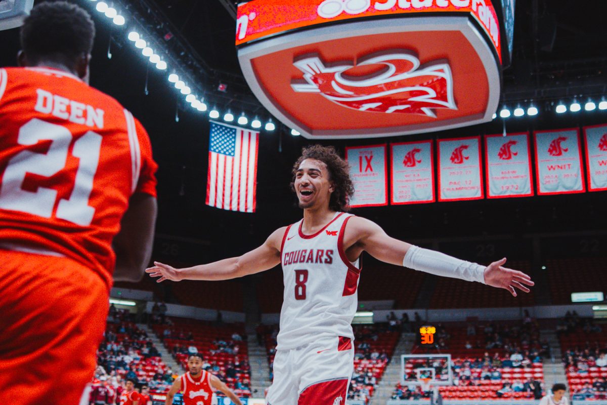
[[[546,260],[546,271],[552,304],[571,304],[571,293],[597,291],[607,285],[606,257]]]

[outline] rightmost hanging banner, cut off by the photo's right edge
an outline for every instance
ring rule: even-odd
[[[607,190],[607,124],[584,128],[588,191]]]

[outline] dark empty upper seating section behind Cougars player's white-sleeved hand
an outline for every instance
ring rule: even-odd
[[[529,273],[531,263],[514,260],[507,264],[510,268]],[[430,300],[430,308],[503,308],[534,305],[534,290],[520,293],[514,298],[506,290],[495,290],[476,282],[435,277],[436,287]]]

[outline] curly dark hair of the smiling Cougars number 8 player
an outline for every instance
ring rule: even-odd
[[[302,155],[293,165],[293,180],[291,191],[295,191],[295,175],[299,165],[305,159],[316,159],[327,165],[329,180],[333,183],[334,191],[331,193],[329,208],[334,211],[350,211],[350,199],[354,195],[354,184],[350,179],[348,162],[342,159],[333,146],[312,145],[302,149]]]

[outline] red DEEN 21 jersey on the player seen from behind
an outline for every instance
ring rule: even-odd
[[[70,257],[109,288],[112,239],[156,167],[118,101],[62,70],[0,69],[0,248]]]

